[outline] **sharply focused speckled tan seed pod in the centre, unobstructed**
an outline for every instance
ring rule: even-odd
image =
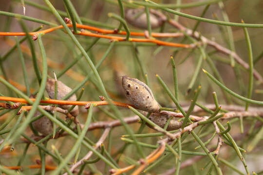
[[[138,109],[148,112],[157,112],[160,109],[150,88],[138,79],[123,76],[122,88],[127,99]]]

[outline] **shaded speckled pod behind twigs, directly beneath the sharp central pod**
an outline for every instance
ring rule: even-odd
[[[147,114],[145,114],[146,116]],[[160,126],[161,128],[164,128],[165,124],[167,123],[169,119],[168,115],[165,114],[158,114],[158,113],[151,113],[149,120],[152,121],[153,123],[157,124],[158,126]],[[172,118],[169,122],[169,125],[167,127],[167,131],[172,131],[172,130],[176,130],[179,129],[182,125],[181,122],[178,122],[179,118]],[[149,124],[147,124],[150,128],[152,128],[152,126],[150,126]]]

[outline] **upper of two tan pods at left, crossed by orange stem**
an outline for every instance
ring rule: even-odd
[[[47,84],[46,84],[46,90],[50,98],[54,99],[55,96],[55,79],[48,78]],[[72,91],[71,88],[64,85],[61,81],[57,81],[57,99],[61,100],[65,95],[67,95],[70,91]],[[73,94],[68,101],[76,101],[76,95]],[[71,105],[60,105],[62,109],[69,109]],[[73,117],[76,117],[78,115],[78,106],[76,105],[70,112],[70,114]]]

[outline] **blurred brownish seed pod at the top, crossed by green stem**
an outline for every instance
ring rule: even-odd
[[[147,29],[147,16],[144,8],[126,10],[125,19],[134,27]],[[163,23],[164,19],[162,17],[150,12],[150,26],[152,29],[160,27]]]

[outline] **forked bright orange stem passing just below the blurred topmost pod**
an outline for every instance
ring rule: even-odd
[[[68,27],[72,27],[72,24],[67,24]],[[101,34],[116,34],[116,35],[126,35],[127,33],[124,31],[117,32],[115,30],[106,30],[106,29],[100,29],[97,27],[92,27],[88,25],[81,25],[76,23],[77,28],[81,29],[87,29],[91,31],[95,31],[100,34],[94,34],[91,32],[80,32],[77,35],[85,35],[85,36],[93,36],[93,37],[100,37],[100,38],[107,38],[107,39],[113,39],[117,41],[125,41],[124,37],[119,37],[119,36],[109,36],[109,35],[101,35]],[[38,31],[38,32],[30,32],[29,35],[34,35],[37,37],[39,33],[47,34],[50,32],[53,32],[58,29],[62,29],[63,26],[57,26],[53,28],[49,28],[46,30]],[[21,36],[21,35],[26,35],[24,32],[0,32],[0,35],[8,35],[8,36]],[[139,32],[131,32],[131,35],[133,36],[145,36],[144,33],[139,33]],[[182,33],[152,33],[153,37],[179,37],[183,36],[184,34]],[[172,43],[172,42],[165,42],[157,39],[147,39],[147,38],[130,38],[129,41],[131,42],[150,42],[150,43],[155,43],[157,45],[163,45],[163,46],[171,46],[171,47],[182,47],[182,48],[192,48],[195,45],[192,44],[179,44],[179,43]]]

